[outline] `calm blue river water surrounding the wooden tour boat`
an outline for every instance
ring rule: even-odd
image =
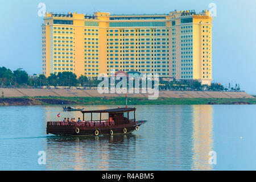
[[[86,110],[115,106],[86,106]],[[256,105],[137,105],[133,134],[46,135],[61,106],[0,107],[0,170],[256,170]],[[38,152],[46,152],[46,165]],[[209,164],[209,151],[217,164]]]

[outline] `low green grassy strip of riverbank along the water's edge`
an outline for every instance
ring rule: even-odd
[[[0,105],[124,105],[124,97],[10,97],[0,98]],[[148,100],[129,97],[128,105],[249,105],[256,98],[167,98]]]

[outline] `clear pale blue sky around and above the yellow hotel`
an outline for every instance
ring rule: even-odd
[[[1,1],[0,67],[12,71],[23,68],[29,75],[42,72],[43,18],[39,3],[47,12],[111,14],[162,14],[174,10],[209,10],[216,4],[213,17],[213,81],[240,84],[249,94],[256,94],[256,1],[232,0],[10,0]]]

